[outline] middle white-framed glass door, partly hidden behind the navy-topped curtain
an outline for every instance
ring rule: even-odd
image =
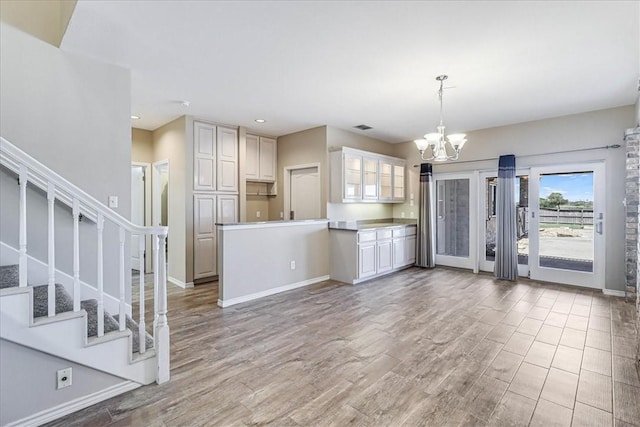
[[[482,172],[478,180],[478,263],[482,271],[494,270],[496,242],[496,189],[498,172]],[[516,214],[518,220],[518,275],[529,275],[529,169],[516,171]]]

